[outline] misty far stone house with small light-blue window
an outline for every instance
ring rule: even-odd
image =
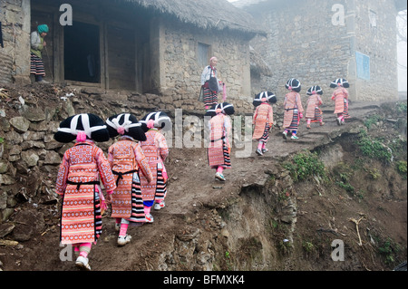
[[[267,36],[251,45],[272,75],[263,90],[281,98],[289,78],[303,84],[302,95],[322,86],[329,103],[330,82],[350,82],[352,101],[398,99],[396,14],[402,0],[240,0],[235,3],[257,21]]]

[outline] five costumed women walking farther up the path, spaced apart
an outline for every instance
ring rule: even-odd
[[[210,65],[211,66],[211,65]],[[213,69],[213,68],[212,68]],[[204,70],[203,75],[206,70]],[[202,78],[205,83],[205,78]],[[206,84],[203,84],[206,87]],[[208,85],[207,85],[208,86]],[[348,114],[348,92],[349,87],[345,79],[336,79],[330,84],[331,88],[335,88],[332,95],[332,100],[335,101],[335,114],[338,125],[345,124],[345,119],[349,118]],[[301,91],[301,83],[292,78],[287,81],[286,88],[289,91],[285,96],[284,101],[284,122],[283,122],[283,138],[287,140],[290,135],[291,140],[298,140],[296,136],[300,120],[303,118],[304,108],[299,92]],[[209,90],[209,88],[206,88]],[[213,101],[218,101],[217,92],[211,92],[214,96]],[[306,128],[311,130],[312,122],[319,122],[321,126],[325,124],[323,121],[323,112],[320,106],[323,104],[321,95],[323,91],[320,86],[312,86],[307,90],[308,100],[306,103]],[[261,92],[255,96],[253,105],[255,111],[253,114],[254,132],[252,140],[257,140],[256,153],[262,156],[268,151],[267,141],[269,140],[269,132],[274,124],[274,111],[272,104],[277,102],[277,97],[273,92]],[[208,103],[205,103],[208,104]],[[206,105],[208,109],[208,105]],[[211,169],[216,169],[215,178],[220,181],[225,181],[223,175],[224,169],[231,168],[230,150],[231,146],[228,141],[228,136],[231,135],[231,120],[228,115],[234,113],[234,106],[228,102],[216,103],[207,111],[206,116],[209,116],[209,149],[208,159]]]

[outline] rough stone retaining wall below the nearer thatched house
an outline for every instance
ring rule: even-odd
[[[67,117],[94,113],[106,120],[114,114],[130,112],[141,120],[150,111],[165,111],[173,127],[169,135],[163,133],[169,147],[177,148],[187,130],[202,133],[203,127],[191,127],[187,118],[203,120],[206,112],[202,107],[183,109],[178,124],[176,111],[165,109],[170,107],[166,100],[171,96],[37,83],[5,88],[7,97],[0,98],[0,224],[15,211],[17,203],[35,201],[39,205],[55,201],[55,175],[63,153],[73,142],[59,143],[53,140],[53,134]],[[179,101],[182,105],[189,100]],[[175,109],[176,103],[171,104]],[[182,133],[176,133],[176,129]],[[109,140],[97,145],[107,152],[112,143]]]

